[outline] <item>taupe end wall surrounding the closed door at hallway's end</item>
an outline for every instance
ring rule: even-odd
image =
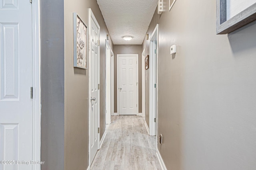
[[[117,83],[116,83],[116,56],[117,54],[138,54],[139,55],[139,113],[142,113],[142,72],[141,72],[141,54],[142,45],[114,45],[114,113],[117,113]]]

